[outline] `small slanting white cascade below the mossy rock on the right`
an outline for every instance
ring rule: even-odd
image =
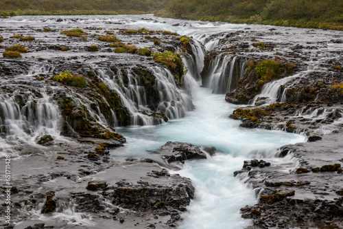
[[[261,94],[258,94],[253,98],[252,100],[249,101],[249,105],[256,105],[255,102],[259,100],[263,100],[261,104],[265,105],[270,105],[276,101],[284,101],[286,100],[285,98],[285,93],[281,94],[281,86],[286,85],[290,81],[294,80],[294,78],[297,78],[301,76],[302,73],[295,74],[294,76],[289,76],[285,78],[281,78],[279,80],[274,80],[270,83],[267,83],[263,85]],[[287,89],[284,89],[283,92],[287,91]]]

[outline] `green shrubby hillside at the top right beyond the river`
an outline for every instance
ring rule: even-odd
[[[177,0],[156,15],[343,30],[343,1],[337,0]]]

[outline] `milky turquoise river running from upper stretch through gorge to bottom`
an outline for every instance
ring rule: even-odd
[[[42,18],[43,21],[41,21]],[[220,42],[218,38],[209,39],[212,34],[235,32],[250,28],[263,32],[276,28],[265,25],[161,19],[152,15],[80,16],[77,17],[78,21],[71,20],[73,18],[75,17],[13,17],[6,21],[8,24],[4,23],[3,25],[20,27],[22,25],[45,23],[54,27],[54,25],[57,25],[56,19],[62,19],[62,22],[58,22],[58,25],[66,28],[76,25],[81,28],[84,26],[102,26],[103,28],[115,26],[130,29],[169,30],[178,32],[181,35],[193,36],[193,39],[202,43],[206,50],[215,49]],[[278,28],[278,30],[283,32],[287,30],[288,33],[292,33],[292,38],[291,36],[282,36],[285,42],[292,39],[305,42],[309,39],[308,36],[303,36],[303,29]],[[318,36],[317,39],[320,39],[321,36],[324,37],[324,34],[318,31],[316,36]],[[220,37],[220,35],[217,37]],[[264,39],[278,39],[278,35],[272,38],[265,37]],[[185,76],[188,95],[186,95],[186,91],[182,91],[182,94],[191,98],[194,109],[185,109],[184,118],[176,116],[174,119],[156,126],[137,127],[137,125],[132,125],[132,127],[116,128],[128,143],[121,149],[110,151],[110,155],[112,157],[144,156],[148,154],[148,151],[153,151],[168,141],[189,142],[203,148],[214,147],[215,154],[207,160],[187,161],[182,170],[170,171],[170,173],[179,173],[184,177],[189,177],[196,187],[196,197],[191,201],[188,212],[182,215],[185,220],[181,222],[180,228],[244,228],[250,222],[241,219],[239,208],[247,204],[255,204],[257,202],[256,193],[252,187],[244,184],[244,179],[239,180],[237,177],[233,177],[233,172],[241,168],[244,160],[251,160],[252,158],[268,158],[268,162],[272,162],[273,166],[285,164],[288,165],[288,168],[295,168],[296,162],[292,160],[292,157],[287,156],[282,159],[275,157],[276,149],[285,144],[304,142],[306,138],[304,135],[285,131],[242,129],[239,127],[240,121],[228,118],[233,110],[239,106],[225,102],[224,94],[212,94],[213,88],[201,87],[199,73],[203,67],[202,61],[206,50],[202,50],[200,47],[196,50],[198,54],[196,56],[198,71],[194,69],[192,71],[191,67],[189,67],[190,71]],[[318,58],[321,58],[320,55]],[[184,64],[187,66],[187,63]],[[315,65],[315,63],[313,64]],[[47,100],[49,99],[47,98]],[[53,108],[54,112],[58,112],[56,107]],[[54,129],[54,127],[54,123],[49,124],[48,129]],[[32,132],[35,131],[37,132],[39,129],[32,130]],[[32,134],[27,137],[18,135],[18,133],[15,131],[11,133],[11,139],[23,140],[25,138],[23,144],[29,144],[30,140],[27,139],[32,138],[33,140],[37,136]],[[56,135],[56,133],[54,134]],[[9,144],[11,139],[1,139],[3,151],[11,151],[11,144]],[[15,153],[14,150],[12,150],[12,153]],[[99,228],[101,228],[100,225]]]

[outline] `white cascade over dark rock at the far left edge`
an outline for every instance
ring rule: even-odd
[[[45,93],[31,91],[14,96],[0,96],[0,151],[11,151],[11,145],[36,144],[38,137],[60,135],[58,105]]]

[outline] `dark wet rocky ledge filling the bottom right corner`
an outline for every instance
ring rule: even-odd
[[[241,208],[242,217],[252,219],[249,228],[342,228],[342,138],[334,133],[283,146],[278,154],[286,157],[283,164],[244,162],[235,175],[248,177],[259,199]]]

